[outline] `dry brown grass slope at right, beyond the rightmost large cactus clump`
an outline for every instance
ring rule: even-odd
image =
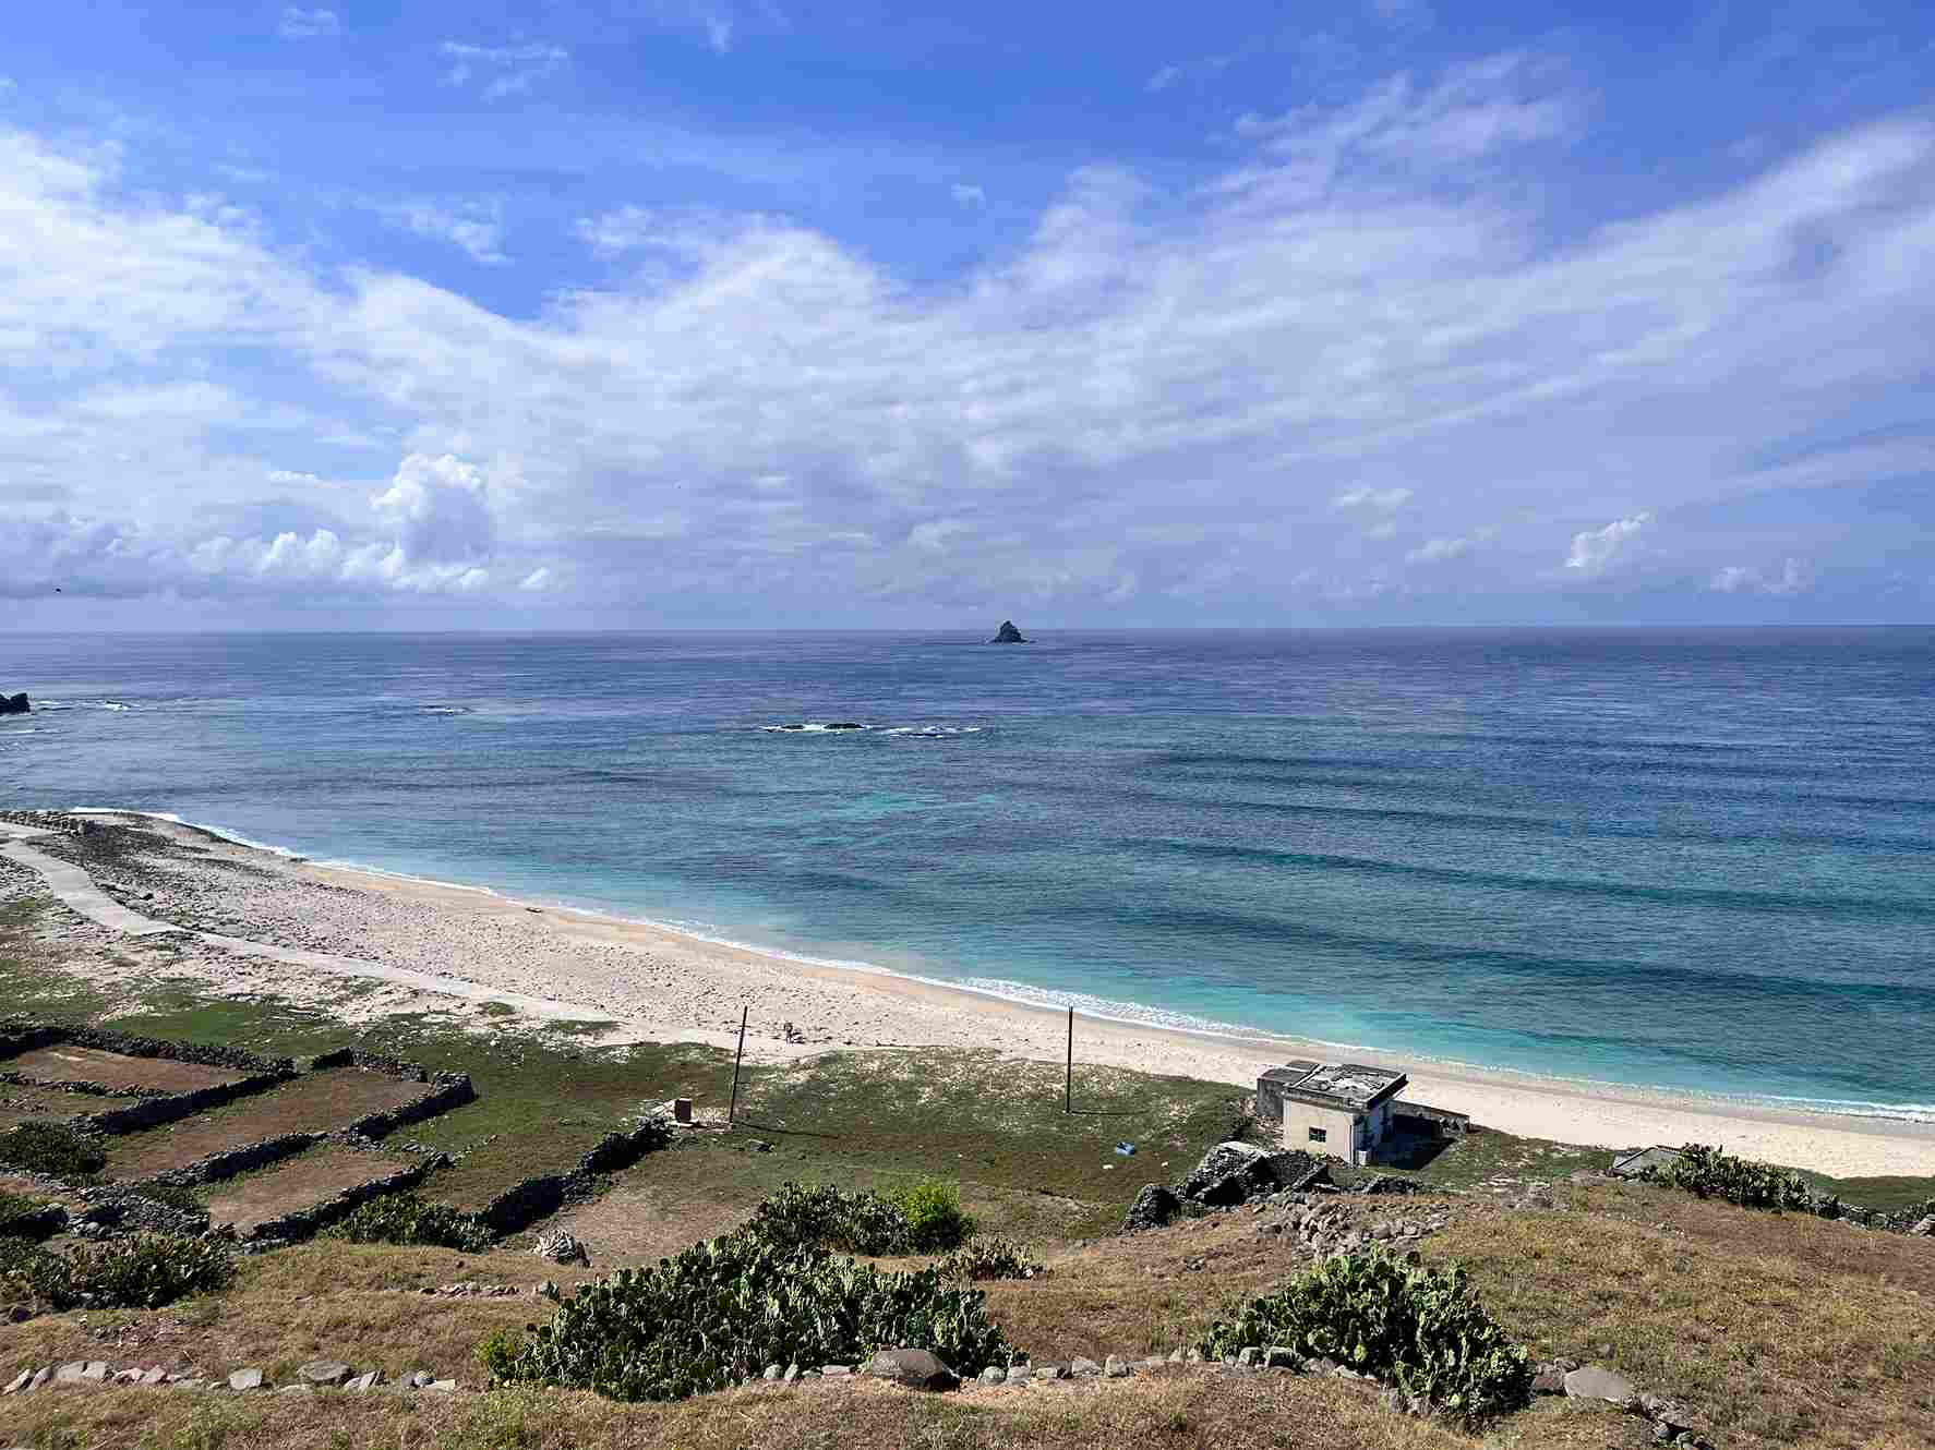
[[[1573,1203],[1461,1218],[1426,1253],[1523,1342],[1610,1359],[1730,1450],[1935,1446],[1935,1243],[1666,1189]]]

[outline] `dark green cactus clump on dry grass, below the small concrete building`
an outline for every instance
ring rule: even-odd
[[[1531,1398],[1525,1351],[1476,1301],[1465,1270],[1428,1268],[1384,1247],[1329,1259],[1252,1299],[1211,1324],[1200,1349],[1221,1359],[1244,1346],[1335,1359],[1465,1421]]]

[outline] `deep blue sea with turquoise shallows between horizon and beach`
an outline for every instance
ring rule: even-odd
[[[0,634],[0,690],[8,806],[1935,1117],[1935,630]]]

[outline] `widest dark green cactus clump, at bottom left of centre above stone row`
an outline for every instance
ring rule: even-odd
[[[851,1365],[900,1346],[931,1349],[962,1375],[1016,1357],[981,1290],[739,1232],[582,1286],[493,1373],[613,1400],[683,1400],[766,1365]]]

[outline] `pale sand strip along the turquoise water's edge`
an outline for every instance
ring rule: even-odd
[[[228,833],[145,812],[74,814],[141,822],[170,839],[194,837],[215,855],[294,887],[302,905],[252,903],[244,920],[300,920],[310,934],[360,942],[358,957],[433,971],[426,957],[449,959],[443,976],[526,996],[582,1001],[584,1015],[619,1025],[608,1040],[683,1040],[731,1048],[739,1007],[753,1027],[747,1052],[788,1061],[840,1048],[977,1046],[1014,1058],[1060,1059],[1066,1007],[878,969],[786,955],[720,942],[681,928],[610,913],[536,905],[491,887],[432,882],[350,864],[323,864]],[[182,853],[180,866],[194,856]],[[213,872],[211,872],[213,874]],[[323,911],[327,897],[337,913]],[[341,893],[341,895],[339,895]],[[344,901],[346,897],[346,901]],[[252,907],[255,907],[252,911]],[[341,920],[331,920],[337,916]],[[488,940],[499,951],[488,949]],[[315,945],[315,942],[312,942]],[[372,955],[373,949],[373,955]],[[555,963],[534,978],[530,963]],[[710,1013],[710,1015],[708,1015]],[[724,1013],[720,1017],[718,1013]],[[805,1042],[774,1027],[784,1017]],[[867,1040],[871,1036],[871,1040]],[[1511,1069],[1438,1063],[1364,1048],[1341,1048],[1269,1032],[1192,1030],[1084,1015],[1076,1009],[1082,1065],[1196,1077],[1254,1087],[1256,1075],[1293,1056],[1399,1067],[1405,1096],[1471,1114],[1484,1127],[1571,1145],[1637,1148],[1652,1143],[1718,1143],[1751,1158],[1848,1175],[1935,1175],[1935,1123],[1858,1114],[1778,1108],[1672,1088],[1581,1083]]]

